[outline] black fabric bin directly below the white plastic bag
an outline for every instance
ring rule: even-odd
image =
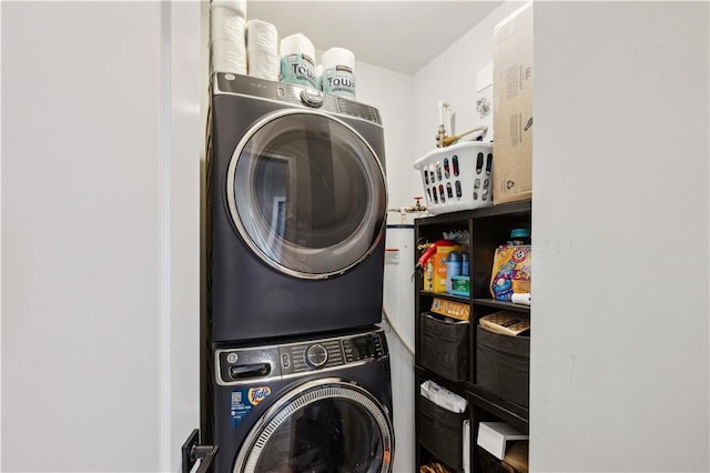
[[[419,443],[448,466],[464,467],[464,421],[456,413],[419,395]]]

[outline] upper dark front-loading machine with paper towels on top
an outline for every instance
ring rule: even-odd
[[[387,190],[376,109],[216,73],[207,157],[212,342],[382,319]]]

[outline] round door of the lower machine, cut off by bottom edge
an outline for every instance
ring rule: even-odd
[[[234,473],[385,473],[393,446],[387,412],[372,394],[322,379],[291,391],[260,419]]]

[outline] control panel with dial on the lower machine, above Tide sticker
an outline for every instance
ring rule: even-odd
[[[371,363],[388,355],[382,329],[281,345],[215,351],[217,383],[242,384]]]

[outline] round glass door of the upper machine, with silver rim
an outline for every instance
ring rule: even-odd
[[[317,111],[284,110],[256,123],[232,155],[226,195],[251,250],[302,279],[355,266],[386,224],[379,158],[352,127]]]

